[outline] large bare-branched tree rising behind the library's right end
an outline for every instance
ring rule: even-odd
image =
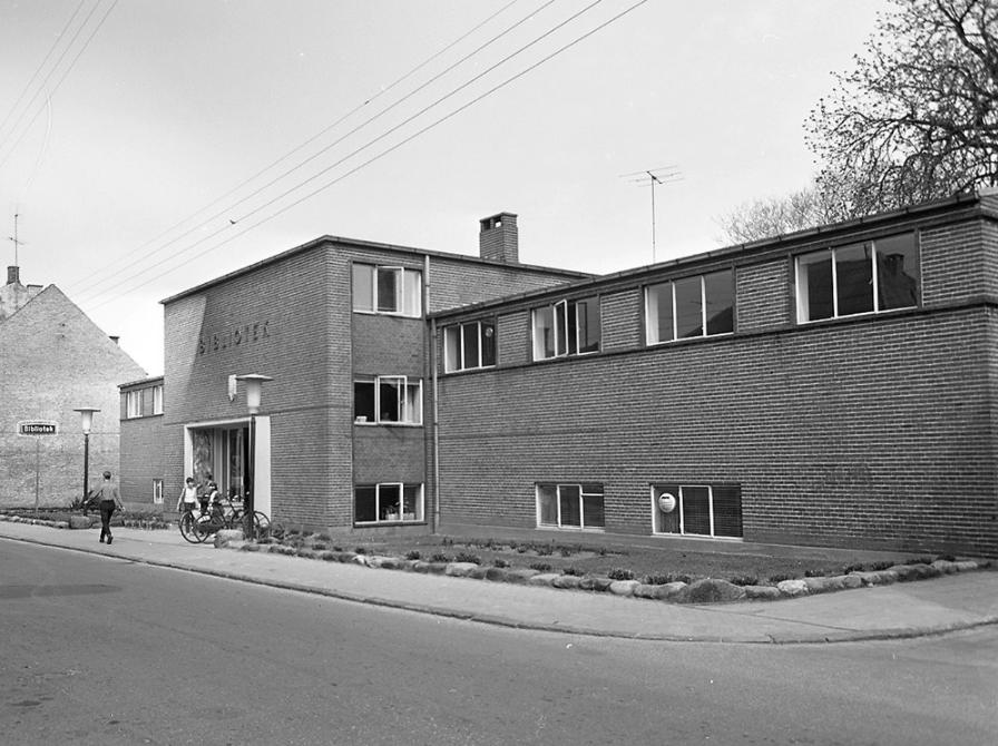
[[[854,216],[998,184],[998,0],[893,1],[805,125]]]

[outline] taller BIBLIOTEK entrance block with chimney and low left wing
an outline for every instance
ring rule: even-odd
[[[169,510],[211,474],[285,523],[429,530],[427,312],[588,277],[520,264],[516,237],[508,213],[480,257],[325,236],[167,298],[163,414],[127,416],[155,380],[121,389],[126,497]],[[245,374],[273,379],[257,413]]]

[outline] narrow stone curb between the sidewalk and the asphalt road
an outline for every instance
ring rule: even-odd
[[[115,559],[125,559],[139,565],[149,567],[162,567],[172,570],[180,570],[185,572],[194,572],[208,577],[222,578],[225,580],[235,580],[256,586],[268,588],[277,588],[281,590],[290,590],[301,593],[312,593],[314,596],[323,596],[325,598],[334,598],[342,601],[353,603],[364,603],[369,606],[378,606],[382,608],[398,609],[402,611],[411,611],[427,616],[436,616],[447,619],[457,619],[459,621],[470,621],[482,625],[491,625],[493,627],[505,627],[507,629],[524,629],[541,632],[557,632],[561,635],[577,635],[581,637],[608,638],[620,640],[640,640],[649,642],[702,642],[702,644],[725,644],[725,645],[816,645],[816,644],[836,644],[836,642],[859,642],[859,641],[877,641],[877,640],[897,640],[911,639],[918,637],[930,637],[948,635],[951,632],[976,629],[990,625],[998,625],[998,616],[987,617],[969,622],[957,622],[952,625],[943,625],[940,627],[911,627],[911,628],[893,628],[884,630],[858,630],[843,631],[835,634],[814,634],[814,635],[754,635],[742,637],[726,637],[723,635],[668,635],[654,632],[619,632],[606,629],[595,629],[591,627],[579,627],[574,625],[558,625],[530,622],[503,617],[498,615],[478,615],[467,611],[458,611],[439,606],[411,603],[408,601],[395,601],[391,599],[378,598],[373,596],[359,596],[345,591],[337,591],[330,588],[321,588],[306,586],[283,580],[270,580],[265,578],[255,578],[238,572],[226,572],[222,570],[204,569],[184,565],[179,562],[154,560],[146,557],[135,557],[115,549],[105,547],[102,550],[87,549],[84,547],[66,547],[59,543],[52,543],[40,539],[19,538],[19,537],[0,537],[10,541],[20,541],[41,547],[51,547],[63,549],[66,551],[81,552],[85,554],[94,554],[95,557],[112,557]],[[688,605],[688,607],[697,607],[701,605]]]

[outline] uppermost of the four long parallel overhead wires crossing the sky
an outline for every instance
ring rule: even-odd
[[[501,14],[502,12],[505,12],[505,11],[506,11],[507,9],[509,9],[511,6],[515,6],[517,2],[519,2],[519,0],[510,0],[510,1],[507,2],[505,6],[502,6],[501,8],[499,8],[499,10],[495,11],[493,13],[491,13],[490,16],[488,16],[488,17],[487,17],[486,19],[483,19],[482,21],[479,21],[478,23],[476,23],[476,24],[474,24],[473,27],[471,27],[468,31],[466,31],[464,33],[462,33],[461,36],[459,36],[457,39],[454,39],[453,41],[451,41],[450,43],[448,43],[447,46],[444,46],[443,48],[441,48],[439,51],[437,51],[437,52],[434,52],[433,55],[431,55],[430,57],[428,57],[425,60],[423,60],[422,62],[420,62],[419,65],[417,65],[415,67],[413,67],[412,69],[410,69],[408,72],[405,72],[405,73],[402,75],[401,77],[397,78],[397,79],[395,79],[393,82],[391,82],[390,85],[382,87],[380,90],[378,90],[378,91],[374,92],[373,95],[371,95],[371,96],[369,96],[368,98],[365,98],[364,101],[362,101],[361,104],[356,105],[354,108],[352,108],[352,109],[351,109],[350,111],[348,111],[346,114],[340,116],[340,117],[339,117],[335,121],[333,121],[331,125],[327,125],[326,127],[324,127],[323,129],[321,129],[319,132],[316,132],[315,135],[313,135],[312,137],[310,137],[309,139],[306,139],[304,143],[302,143],[301,145],[297,145],[296,147],[292,148],[291,150],[288,150],[287,153],[285,153],[283,156],[281,156],[281,157],[277,158],[276,160],[273,160],[273,161],[270,163],[268,165],[264,166],[262,169],[257,170],[253,176],[250,176],[248,178],[244,179],[243,181],[241,181],[239,184],[237,184],[235,187],[232,187],[228,192],[226,192],[226,193],[223,194],[222,196],[215,198],[214,200],[212,200],[211,203],[208,203],[208,204],[205,205],[204,207],[197,209],[196,212],[192,213],[190,215],[188,215],[188,216],[185,217],[184,219],[178,220],[177,223],[175,223],[174,225],[172,225],[169,228],[166,228],[166,229],[163,230],[159,235],[157,235],[156,237],[150,238],[149,241],[147,241],[147,242],[145,242],[144,244],[139,245],[137,248],[133,249],[133,251],[129,252],[128,254],[135,254],[135,253],[140,252],[141,249],[144,249],[144,248],[150,246],[150,245],[154,245],[154,244],[158,243],[160,239],[165,238],[166,236],[168,236],[169,234],[172,234],[174,230],[176,230],[177,228],[182,227],[182,226],[185,225],[186,223],[190,222],[192,219],[194,219],[195,217],[197,217],[197,216],[200,215],[202,213],[205,213],[206,210],[208,210],[208,209],[211,209],[212,207],[214,207],[215,205],[219,204],[221,202],[223,202],[223,200],[226,199],[227,197],[231,197],[232,195],[234,195],[234,194],[236,194],[237,192],[239,192],[243,187],[247,186],[248,184],[252,184],[253,181],[255,181],[257,178],[260,178],[261,176],[263,176],[264,174],[266,174],[267,171],[270,171],[271,169],[273,169],[273,168],[274,168],[275,166],[277,166],[278,164],[281,164],[281,163],[287,160],[288,158],[291,158],[291,157],[292,157],[293,155],[295,155],[296,153],[299,153],[299,151],[303,150],[304,148],[306,148],[307,146],[312,145],[315,140],[317,140],[319,138],[321,138],[323,135],[326,135],[327,132],[330,132],[330,131],[332,131],[333,129],[335,129],[339,125],[341,125],[343,121],[345,121],[346,119],[349,119],[351,116],[353,116],[354,114],[356,114],[358,111],[360,111],[360,110],[363,109],[364,107],[370,106],[373,101],[375,101],[375,100],[378,100],[379,98],[381,98],[382,96],[387,95],[389,91],[391,91],[392,89],[394,89],[397,86],[401,85],[402,82],[404,82],[405,80],[408,80],[409,78],[411,78],[413,75],[415,75],[417,72],[419,72],[420,70],[422,70],[424,67],[427,67],[427,65],[433,62],[433,61],[437,60],[439,57],[441,57],[442,55],[444,55],[444,53],[447,53],[448,51],[450,51],[451,49],[453,49],[457,45],[459,45],[459,43],[462,42],[464,39],[467,39],[467,38],[470,37],[471,35],[473,35],[476,31],[478,31],[479,29],[481,29],[483,26],[488,24],[492,19],[495,19],[496,17],[498,17],[499,14]],[[554,0],[549,0],[549,2],[545,4],[545,7],[547,7],[547,6],[550,4],[551,2],[554,2]],[[538,12],[538,11],[532,11],[532,13],[536,13],[536,12]],[[530,16],[528,16],[527,18],[529,18],[529,17],[530,17]],[[525,20],[526,20],[526,19],[525,19]],[[410,94],[409,96],[411,97],[411,94]],[[408,98],[408,97],[407,97],[407,98]],[[390,109],[393,108],[394,106],[398,106],[399,104],[401,104],[401,101],[404,101],[404,100],[407,100],[407,99],[403,98],[403,99],[401,99],[400,101],[397,101],[394,105],[392,105],[392,107],[389,107],[389,109],[385,109],[384,111],[382,111],[382,114],[384,114],[385,111],[390,110]],[[371,121],[371,120],[368,120],[368,121]],[[350,134],[352,134],[353,131],[355,131],[355,130],[351,130]],[[343,138],[341,138],[341,140],[342,140],[342,139],[343,139]],[[335,144],[339,144],[341,140],[336,140]],[[334,144],[334,145],[335,145],[335,144]],[[332,146],[329,146],[329,147],[332,147]],[[283,176],[286,176],[287,174],[293,173],[293,171],[296,170],[297,168],[301,168],[302,166],[304,166],[305,164],[310,163],[311,160],[313,160],[315,157],[317,157],[317,156],[321,155],[322,153],[325,153],[325,151],[329,149],[329,147],[324,148],[323,150],[320,150],[317,154],[313,155],[312,157],[307,158],[306,160],[301,161],[297,166],[295,166],[295,168],[291,169],[290,171],[285,171],[285,173],[284,173],[281,177],[278,177],[278,178],[283,178]],[[124,265],[124,266],[119,266],[117,271],[115,271],[115,272],[112,272],[112,273],[110,273],[110,274],[107,274],[106,268],[107,268],[108,265],[104,265],[104,266],[101,266],[101,267],[98,267],[98,268],[91,271],[89,274],[87,274],[87,275],[85,275],[85,276],[82,276],[82,277],[76,279],[74,283],[71,283],[70,285],[68,285],[67,288],[68,288],[68,289],[72,289],[72,288],[75,288],[75,287],[78,287],[78,286],[80,286],[80,285],[82,285],[82,284],[85,284],[85,283],[87,283],[91,277],[94,277],[94,276],[96,276],[96,275],[98,275],[98,274],[102,275],[101,283],[102,283],[102,282],[108,282],[109,279],[119,276],[123,272],[129,269],[130,267],[136,266],[137,264],[141,263],[143,261],[145,261],[145,259],[147,259],[147,258],[149,258],[149,257],[151,257],[151,256],[155,256],[155,255],[158,254],[159,252],[162,252],[162,251],[168,248],[169,246],[172,246],[173,244],[177,243],[180,238],[184,238],[185,236],[190,235],[192,233],[194,233],[195,230],[197,230],[197,229],[200,228],[202,226],[206,225],[207,223],[211,223],[212,220],[215,220],[215,219],[217,219],[218,217],[222,217],[222,216],[225,215],[226,213],[231,213],[233,207],[236,207],[236,206],[241,205],[242,203],[246,202],[247,199],[254,197],[254,196],[255,196],[256,194],[258,194],[261,190],[263,190],[263,189],[265,189],[266,187],[273,185],[275,180],[276,180],[276,179],[270,181],[268,184],[264,185],[263,187],[261,187],[261,188],[257,189],[256,192],[252,193],[251,195],[244,197],[244,198],[241,199],[239,202],[236,202],[235,204],[229,205],[228,207],[226,207],[225,209],[221,210],[219,213],[216,213],[216,214],[212,215],[211,217],[208,217],[208,218],[202,220],[200,223],[194,225],[190,229],[186,230],[185,233],[183,233],[183,234],[180,234],[180,235],[178,235],[178,236],[175,236],[173,239],[170,239],[169,242],[167,242],[167,243],[164,244],[163,246],[159,246],[158,248],[154,248],[154,249],[150,251],[150,252],[146,252],[145,254],[143,254],[141,256],[139,256],[137,259],[133,261],[133,262],[129,263],[129,264],[126,264],[126,265]],[[127,255],[126,255],[126,256],[127,256]]]

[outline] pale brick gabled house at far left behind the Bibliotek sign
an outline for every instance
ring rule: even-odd
[[[91,487],[117,472],[118,383],[145,371],[55,285],[0,287],[0,505],[68,504],[82,494],[84,434],[74,410],[92,406]],[[43,428],[25,428],[42,423]],[[38,434],[22,434],[25,431]]]

